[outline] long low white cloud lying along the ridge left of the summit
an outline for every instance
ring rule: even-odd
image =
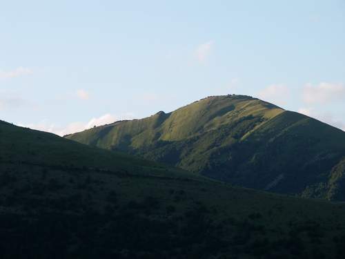
[[[93,126],[101,126],[104,124],[110,124],[112,122],[116,122],[117,120],[132,119],[132,118],[133,118],[133,113],[126,113],[119,117],[116,117],[115,115],[111,115],[110,113],[107,113],[100,117],[93,117],[88,122],[72,122],[66,126],[58,126],[56,124],[51,124],[46,121],[41,121],[39,123],[33,123],[33,124],[18,124],[18,125],[36,129],[38,131],[47,131],[50,133],[55,133],[57,135],[63,136],[63,135],[71,134],[71,133],[76,133],[79,131],[84,131],[88,128],[92,128]]]

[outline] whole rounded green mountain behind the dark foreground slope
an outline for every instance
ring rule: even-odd
[[[66,136],[239,186],[345,200],[345,133],[243,95]]]

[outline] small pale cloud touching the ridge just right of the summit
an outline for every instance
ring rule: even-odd
[[[290,97],[290,90],[282,84],[272,84],[267,86],[258,93],[260,99],[273,104],[286,104],[288,97]]]

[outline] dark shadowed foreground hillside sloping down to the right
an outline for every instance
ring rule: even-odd
[[[0,122],[0,192],[3,258],[342,258],[345,252],[344,203],[233,187],[6,122]]]

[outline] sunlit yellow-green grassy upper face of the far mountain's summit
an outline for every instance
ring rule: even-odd
[[[208,97],[172,112],[161,126],[160,139],[184,140],[221,125],[231,124],[241,117],[270,119],[283,111],[282,108],[252,97]]]

